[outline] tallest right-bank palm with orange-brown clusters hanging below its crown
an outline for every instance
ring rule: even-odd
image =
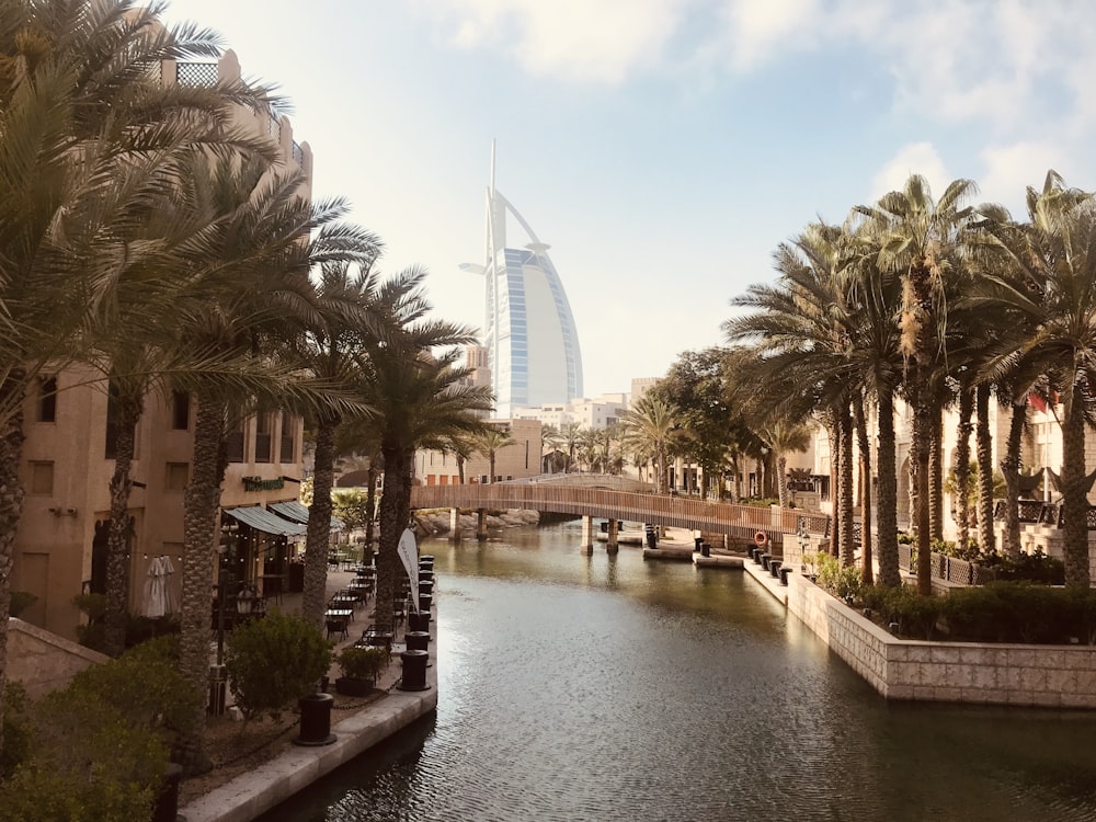
[[[857,206],[879,243],[878,266],[899,274],[903,283],[900,327],[905,358],[904,390],[913,410],[911,473],[917,501],[917,590],[932,593],[932,517],[929,455],[936,386],[947,331],[949,286],[961,274],[962,255],[978,213],[963,203],[975,193],[970,180],[956,180],[934,201],[924,178],[914,174],[902,191],[891,192],[875,206]],[[882,493],[882,489],[880,489]]]

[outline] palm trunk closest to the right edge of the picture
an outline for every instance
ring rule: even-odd
[[[1073,401],[1065,409],[1062,422],[1062,473],[1058,478],[1062,492],[1065,520],[1062,538],[1065,543],[1065,586],[1087,589],[1088,573],[1088,490],[1093,475],[1085,476],[1084,389],[1074,381]]]

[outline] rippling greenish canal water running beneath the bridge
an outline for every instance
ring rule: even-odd
[[[263,818],[1096,820],[1096,716],[887,704],[742,573],[435,540],[435,717]]]

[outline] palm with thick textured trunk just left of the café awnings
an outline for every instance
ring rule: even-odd
[[[247,363],[252,376],[246,384],[196,377],[187,385],[197,409],[184,495],[180,666],[204,687],[228,408],[259,401],[329,408],[323,398],[333,386],[301,374],[288,356],[294,346],[287,336],[319,313],[308,272],[341,260],[368,264],[376,248],[368,232],[336,222],[345,210],[342,202],[304,201],[299,172],[195,158],[185,173],[184,202],[208,224],[187,255],[208,287],[175,304],[180,343],[213,359]]]

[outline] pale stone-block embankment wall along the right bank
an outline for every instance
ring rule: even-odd
[[[898,639],[800,574],[788,609],[889,699],[1096,708],[1096,648]]]

